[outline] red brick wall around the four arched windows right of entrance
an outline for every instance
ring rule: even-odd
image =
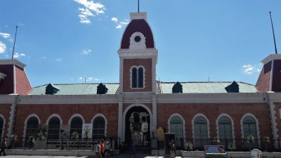
[[[263,103],[224,103],[224,104],[158,104],[157,105],[157,128],[160,126],[162,129],[165,129],[166,132],[168,129],[168,119],[171,114],[178,113],[181,114],[183,119],[185,119],[185,136],[186,138],[192,138],[192,119],[196,114],[202,113],[207,119],[209,119],[210,126],[210,138],[217,136],[216,131],[216,119],[222,113],[230,115],[234,121],[234,131],[235,138],[242,138],[241,133],[241,124],[240,121],[244,114],[251,113],[254,114],[256,119],[259,120],[259,132],[260,136],[270,136],[271,125],[270,114],[268,111],[268,105]]]

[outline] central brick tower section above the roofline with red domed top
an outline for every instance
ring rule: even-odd
[[[147,13],[130,13],[118,51],[120,59],[119,93],[156,93],[158,51]]]

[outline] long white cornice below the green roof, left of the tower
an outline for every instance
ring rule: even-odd
[[[20,96],[18,104],[118,104],[117,95]]]

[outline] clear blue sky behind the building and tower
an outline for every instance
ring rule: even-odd
[[[122,34],[137,0],[0,0],[0,58],[25,63],[32,86],[117,83]],[[261,60],[281,53],[280,0],[140,0],[161,81],[256,84]]]

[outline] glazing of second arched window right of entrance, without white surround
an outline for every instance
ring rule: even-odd
[[[194,139],[194,147],[202,148],[209,144],[207,120],[202,116],[194,120]]]

